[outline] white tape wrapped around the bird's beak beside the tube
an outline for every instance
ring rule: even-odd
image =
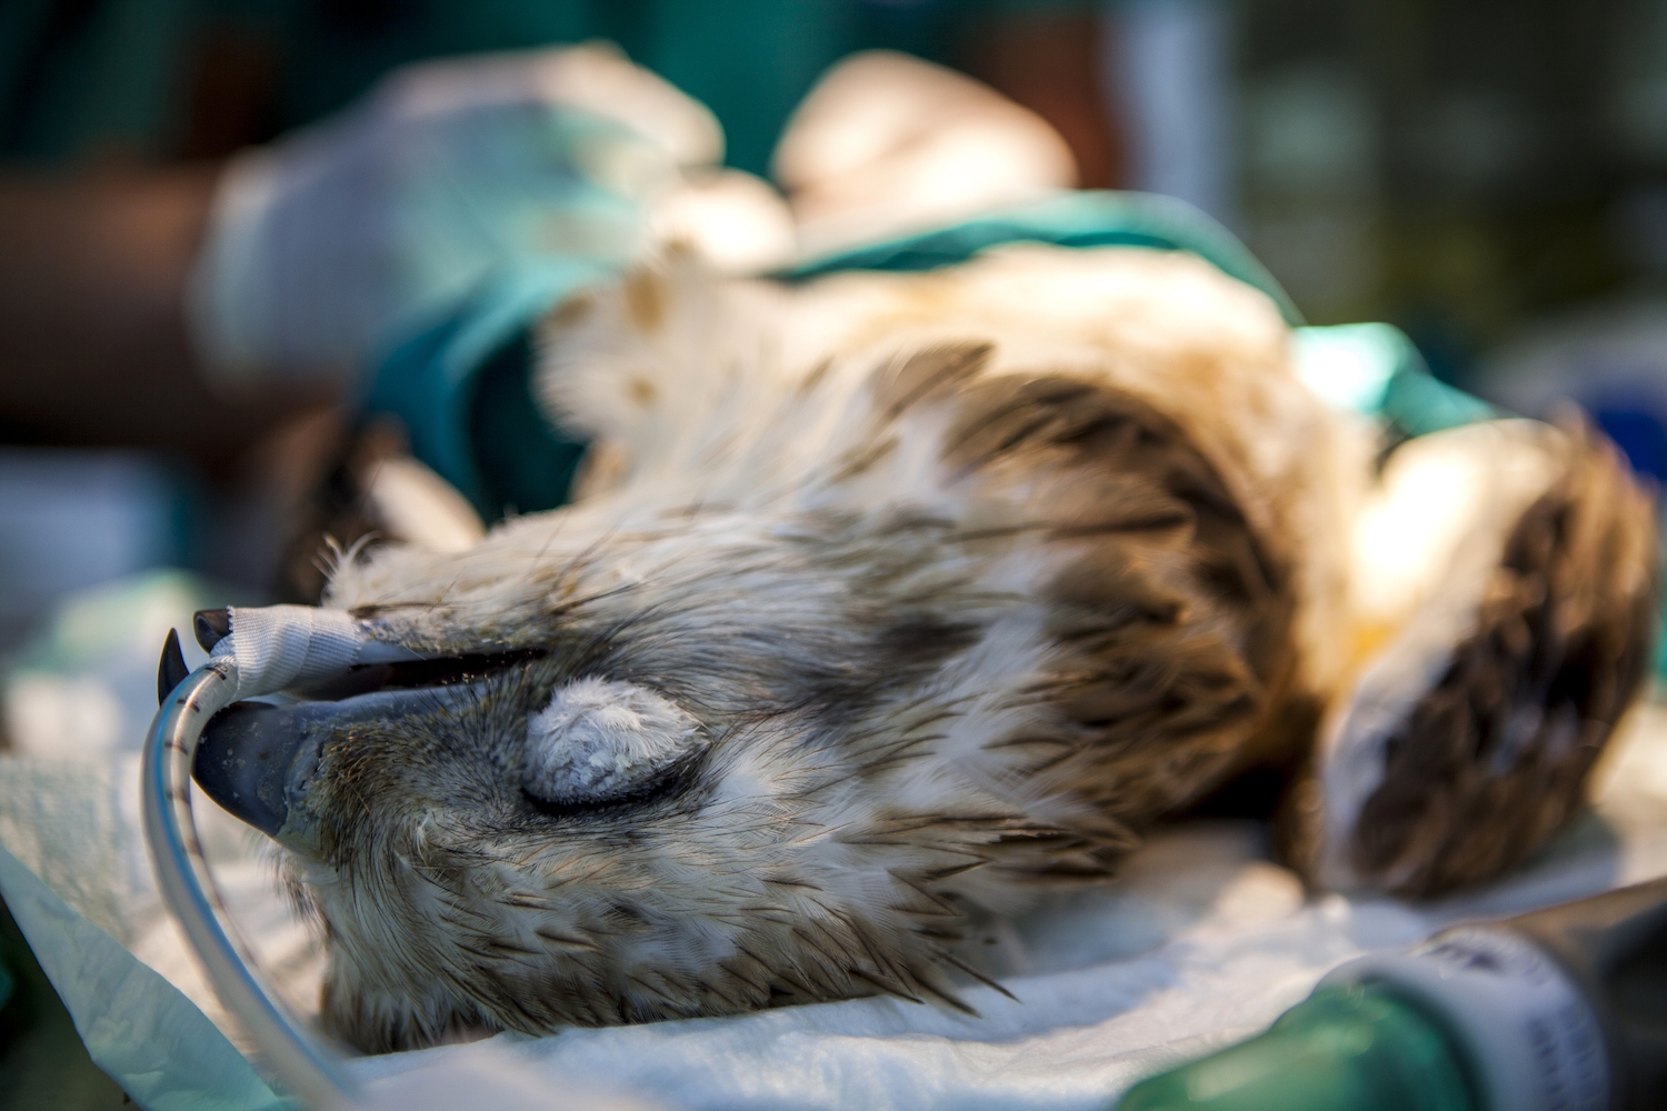
[[[232,631],[210,660],[237,661],[237,696],[272,695],[342,675],[355,663],[418,660],[417,653],[375,641],[342,610],[318,606],[233,606]]]

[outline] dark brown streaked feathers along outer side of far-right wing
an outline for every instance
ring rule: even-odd
[[[1537,851],[1644,681],[1655,515],[1614,448],[1569,433],[1565,473],[1512,530],[1477,628],[1390,740],[1355,826],[1355,869],[1397,894],[1490,879]]]

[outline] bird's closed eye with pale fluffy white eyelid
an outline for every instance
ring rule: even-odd
[[[628,803],[663,786],[703,743],[700,723],[663,695],[573,680],[527,720],[522,788],[557,815]]]

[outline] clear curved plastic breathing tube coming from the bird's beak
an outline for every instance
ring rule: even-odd
[[[163,903],[185,929],[215,994],[260,1046],[288,1094],[313,1108],[345,1106],[353,1098],[352,1081],[255,971],[197,838],[192,760],[208,720],[237,700],[237,661],[217,658],[192,671],[157,710],[140,776],[150,861]]]

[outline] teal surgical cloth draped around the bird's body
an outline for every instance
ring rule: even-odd
[[[847,270],[934,270],[1019,242],[1192,252],[1267,293],[1289,323],[1302,323],[1290,296],[1232,233],[1184,202],[1147,193],[1062,193],[950,228],[827,255],[775,277],[807,281]],[[487,521],[562,505],[585,445],[553,428],[533,405],[528,330],[565,296],[607,273],[598,265],[572,263],[495,275],[382,361],[365,411],[403,421],[413,455],[457,486]],[[1384,418],[1402,435],[1494,415],[1485,403],[1432,378],[1399,330],[1369,326],[1377,330],[1375,341],[1357,346],[1364,358],[1375,360],[1384,385],[1355,408]],[[1330,331],[1347,330],[1302,328],[1299,335]]]

